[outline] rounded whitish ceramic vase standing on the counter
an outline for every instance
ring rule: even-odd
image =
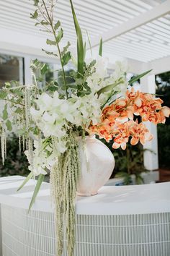
[[[79,138],[79,157],[81,174],[77,195],[96,195],[99,188],[106,184],[115,167],[115,158],[104,143],[95,137]]]

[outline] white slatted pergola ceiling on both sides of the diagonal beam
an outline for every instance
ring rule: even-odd
[[[122,25],[158,6],[164,0],[73,0],[81,29],[86,38],[86,30],[91,40],[107,33],[112,27]],[[169,0],[168,0],[169,1]],[[30,13],[35,7],[27,0],[0,0],[0,28],[20,33],[49,38],[34,26]],[[61,20],[64,38],[76,43],[71,7],[68,0],[58,0],[55,19]],[[43,40],[43,39],[42,39]],[[12,39],[13,41],[13,39]],[[38,47],[38,45],[37,45]],[[170,55],[170,15],[136,27],[128,33],[104,43],[104,52],[139,61],[152,61]]]

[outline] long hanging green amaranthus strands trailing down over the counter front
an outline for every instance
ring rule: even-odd
[[[66,241],[68,256],[73,255],[75,245],[75,205],[76,186],[79,179],[79,145],[76,133],[68,132],[67,150],[58,156],[50,172],[50,184],[55,205],[56,255],[63,252],[64,227],[66,227]],[[55,148],[55,138],[53,138]]]

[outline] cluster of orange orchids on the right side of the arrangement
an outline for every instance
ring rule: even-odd
[[[112,148],[115,149],[121,147],[125,150],[129,137],[131,145],[139,141],[144,144],[152,140],[153,136],[145,124],[133,121],[133,114],[140,115],[142,121],[164,123],[170,115],[170,108],[162,107],[162,103],[160,98],[154,98],[149,93],[135,92],[132,88],[126,92],[125,98],[118,98],[112,105],[106,106],[102,111],[101,122],[91,125],[89,130],[107,142],[114,138]]]

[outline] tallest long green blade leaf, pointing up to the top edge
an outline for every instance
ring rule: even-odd
[[[76,17],[76,13],[73,8],[72,0],[70,0],[71,3],[71,11],[73,14],[73,22],[76,29],[76,35],[77,35],[77,63],[78,63],[78,77],[82,77],[84,73],[84,42],[83,37],[81,33],[81,28],[79,26],[79,22]]]

